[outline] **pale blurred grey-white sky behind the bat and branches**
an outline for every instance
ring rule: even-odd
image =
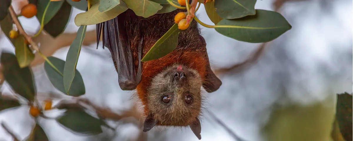
[[[273,0],[258,0],[256,9],[273,10]],[[76,32],[74,15],[81,13],[74,9],[65,29],[66,33]],[[288,2],[281,14],[292,25],[292,29],[268,43],[259,60],[243,72],[229,72],[221,76],[222,86],[207,98],[204,116],[201,120],[202,141],[234,141],[225,129],[210,117],[209,111],[221,119],[234,133],[247,141],[264,140],[262,126],[268,121],[274,105],[294,103],[308,105],[323,101],[335,93],[352,93],[352,1],[351,0],[308,0]],[[204,7],[197,13],[206,24]],[[36,19],[20,18],[26,32],[34,34],[39,27]],[[37,28],[35,25],[37,25]],[[201,27],[207,43],[212,67],[222,68],[237,64],[248,57],[259,44],[236,41],[220,35],[214,29]],[[95,30],[95,26],[88,26]],[[4,34],[0,35],[1,50],[14,51]],[[68,47],[59,49],[53,56],[65,60]],[[122,91],[118,85],[110,53],[96,44],[84,46],[77,63],[86,94],[92,102],[122,112],[133,105],[133,92]],[[43,66],[33,69],[37,91],[60,94],[48,80]],[[8,91],[5,87],[4,91]],[[285,93],[283,93],[285,91]],[[0,121],[6,122],[12,130],[24,139],[34,124],[28,114],[28,107],[7,110],[0,113]],[[53,111],[49,115],[58,115]],[[141,128],[130,123],[108,123],[118,126],[115,140],[137,139]],[[51,119],[41,119],[40,124],[52,141],[95,140],[93,136],[78,136],[62,128]],[[104,137],[111,135],[98,135]],[[0,128],[0,133],[4,130]],[[148,132],[150,140],[198,139],[190,129],[153,128]],[[10,141],[7,134],[0,134],[0,140]]]

